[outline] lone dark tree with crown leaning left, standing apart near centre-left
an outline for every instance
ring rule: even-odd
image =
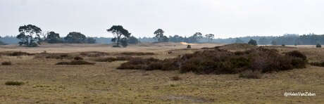
[[[115,41],[117,41],[118,47],[121,39],[123,39],[123,41],[126,41],[127,44],[127,38],[130,37],[131,34],[130,32],[128,32],[128,30],[125,30],[121,25],[113,25],[113,27],[108,29],[107,32],[111,32],[114,35],[115,38],[111,39],[111,41],[114,41],[114,43]]]

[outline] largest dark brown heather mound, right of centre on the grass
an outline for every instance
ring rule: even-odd
[[[132,58],[118,69],[180,70],[197,74],[237,74],[247,70],[278,72],[306,67],[306,56],[299,51],[281,55],[275,49],[253,48],[248,51],[230,52],[215,48],[185,54],[182,57],[158,60]]]

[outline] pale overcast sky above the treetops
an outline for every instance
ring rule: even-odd
[[[36,25],[61,37],[113,37],[123,25],[135,37],[215,38],[324,34],[323,0],[0,0],[0,36],[17,35],[22,25]]]

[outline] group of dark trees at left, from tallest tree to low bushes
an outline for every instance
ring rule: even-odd
[[[42,29],[35,25],[23,25],[18,29],[18,44],[29,47],[35,47],[37,44],[46,42],[49,44],[68,43],[68,44],[95,44],[96,40],[91,37],[85,37],[80,32],[70,32],[66,37],[61,38],[56,32],[42,32]],[[42,37],[41,37],[42,36]]]

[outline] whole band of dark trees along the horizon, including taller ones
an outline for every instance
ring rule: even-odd
[[[324,34],[284,34],[281,37],[237,37],[228,39],[214,39],[214,34],[201,34],[196,32],[190,37],[182,37],[180,35],[173,35],[167,37],[162,29],[158,29],[153,32],[154,37],[133,37],[131,33],[123,28],[121,25],[113,25],[106,30],[113,34],[113,38],[106,37],[86,37],[85,34],[80,32],[70,32],[66,37],[60,37],[60,34],[56,32],[43,32],[39,27],[35,25],[23,25],[18,29],[19,34],[16,37],[0,37],[1,44],[20,44],[25,46],[37,46],[41,43],[49,44],[116,44],[114,46],[119,47],[127,46],[128,44],[138,44],[141,42],[187,42],[187,43],[204,43],[204,42],[217,42],[223,44],[232,43],[248,43],[254,40],[259,45],[316,45],[324,44]],[[254,43],[253,41],[253,43]]]

